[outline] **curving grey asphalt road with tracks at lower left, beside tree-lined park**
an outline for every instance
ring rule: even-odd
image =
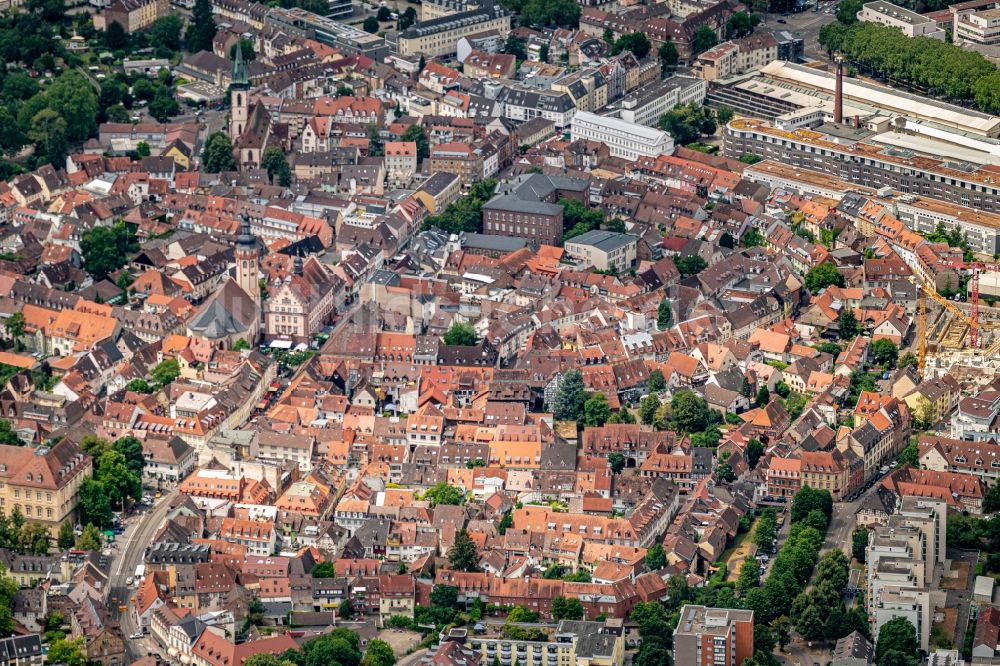
[[[159,652],[159,646],[151,636],[144,636],[141,639],[129,638],[133,634],[139,633],[139,624],[135,617],[135,605],[132,602],[135,588],[128,588],[125,581],[135,573],[135,568],[142,563],[146,547],[153,542],[153,536],[163,524],[170,508],[170,502],[176,495],[176,490],[164,494],[151,509],[131,517],[126,522],[125,532],[119,537],[118,552],[111,562],[112,601],[109,607],[113,613],[118,613],[119,605],[127,607],[124,612],[119,613],[118,619],[125,637],[125,650],[129,662],[145,657],[150,652]],[[115,599],[117,602],[114,601]]]

